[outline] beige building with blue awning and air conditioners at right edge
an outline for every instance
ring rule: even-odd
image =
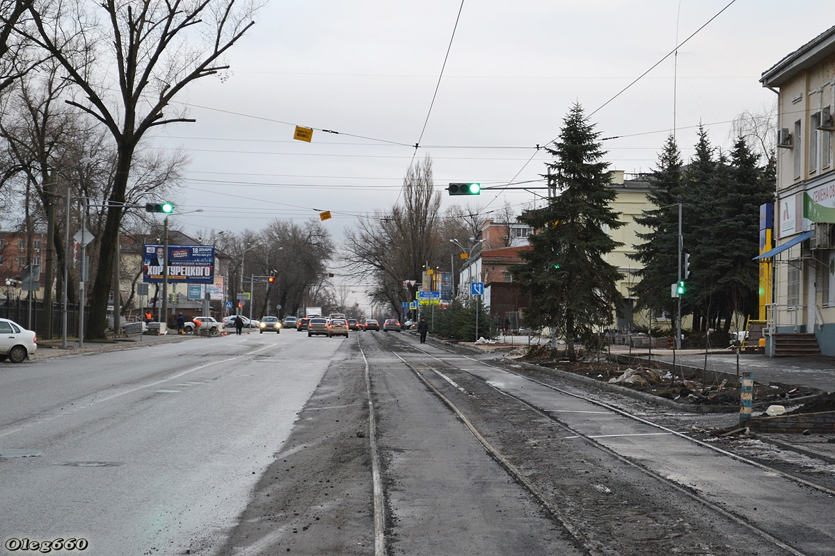
[[[776,247],[773,303],[767,310],[767,353],[781,333],[814,334],[835,355],[835,28],[789,53],[762,74],[777,93]]]

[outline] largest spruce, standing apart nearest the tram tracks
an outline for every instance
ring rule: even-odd
[[[574,338],[589,342],[595,327],[612,322],[622,301],[616,287],[621,275],[605,261],[621,245],[609,232],[622,223],[610,207],[616,195],[599,135],[574,104],[557,142],[546,148],[555,158],[547,165],[559,193],[520,218],[534,228],[532,249],[521,252],[526,263],[512,269],[529,299],[527,323],[564,333],[570,361],[577,358]]]

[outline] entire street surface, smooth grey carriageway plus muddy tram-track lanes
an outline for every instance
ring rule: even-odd
[[[653,428],[490,354],[408,333],[149,344],[0,365],[0,553],[58,538],[205,556],[835,543],[827,493],[687,441],[687,416]]]

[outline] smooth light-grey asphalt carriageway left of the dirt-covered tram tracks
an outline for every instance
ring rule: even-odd
[[[339,345],[284,339],[3,365],[0,553],[58,538],[109,556],[215,553]]]

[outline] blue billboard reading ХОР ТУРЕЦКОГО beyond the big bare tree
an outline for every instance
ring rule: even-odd
[[[146,244],[143,248],[143,276],[147,283],[162,283],[168,264],[169,283],[215,283],[215,246]]]

